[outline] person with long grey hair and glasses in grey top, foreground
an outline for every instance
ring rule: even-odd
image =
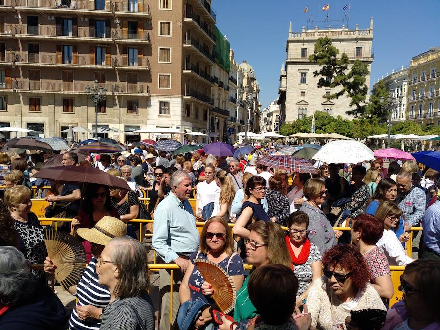
[[[139,241],[115,237],[96,263],[99,284],[110,291],[100,330],[154,330],[147,250]]]

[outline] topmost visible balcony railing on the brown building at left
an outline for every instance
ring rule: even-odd
[[[138,4],[134,1],[99,1],[93,0],[4,0],[5,6],[14,7],[35,7],[35,8],[54,8],[54,9],[75,9],[75,10],[105,10],[129,12],[129,13],[149,13],[148,4]]]

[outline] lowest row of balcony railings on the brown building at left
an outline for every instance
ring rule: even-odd
[[[29,81],[26,79],[12,79],[11,86],[1,86],[0,89],[15,89],[15,90],[32,90],[32,91],[47,91],[47,92],[78,92],[86,93],[86,87],[92,86],[93,82],[76,83],[69,81]],[[100,84],[107,88],[108,92],[113,93],[132,93],[132,94],[150,94],[150,89],[146,83],[105,83]]]

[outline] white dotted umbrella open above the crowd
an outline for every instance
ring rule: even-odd
[[[365,144],[355,140],[344,140],[325,144],[312,159],[327,164],[357,164],[375,158],[373,151]]]

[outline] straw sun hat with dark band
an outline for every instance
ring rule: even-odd
[[[79,228],[76,232],[89,242],[107,245],[114,237],[125,237],[127,227],[118,218],[104,216],[93,228]]]

